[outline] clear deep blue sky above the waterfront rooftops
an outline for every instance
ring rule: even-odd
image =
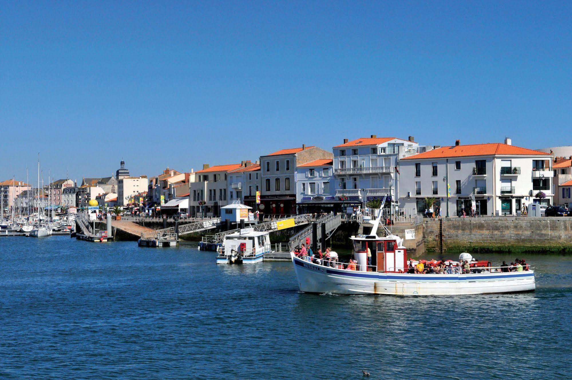
[[[572,145],[572,2],[3,2],[0,180],[377,134]]]

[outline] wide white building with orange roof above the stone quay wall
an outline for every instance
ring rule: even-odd
[[[480,215],[515,215],[523,204],[551,204],[554,196],[550,153],[489,143],[442,147],[399,160],[399,207],[423,213],[436,198],[442,216],[470,215],[474,199]],[[450,197],[447,198],[447,184]],[[545,198],[538,199],[539,192]]]

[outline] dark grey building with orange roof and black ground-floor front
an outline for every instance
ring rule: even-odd
[[[260,212],[267,215],[296,213],[296,167],[319,159],[331,160],[332,153],[302,145],[301,148],[281,149],[260,156]]]

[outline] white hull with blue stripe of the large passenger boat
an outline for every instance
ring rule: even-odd
[[[300,291],[332,294],[462,295],[535,290],[534,271],[487,274],[399,274],[319,266],[291,254]]]

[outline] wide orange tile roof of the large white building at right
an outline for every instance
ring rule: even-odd
[[[533,149],[515,147],[514,145],[491,142],[488,144],[456,145],[455,147],[442,147],[419,153],[418,155],[404,157],[402,160],[441,159],[449,157],[470,156],[550,156],[550,153],[533,151]]]

